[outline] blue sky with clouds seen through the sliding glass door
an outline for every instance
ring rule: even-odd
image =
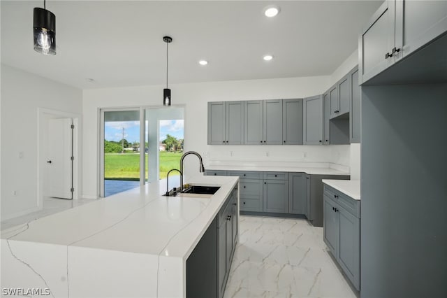
[[[170,134],[177,139],[183,139],[183,120],[160,120],[160,141],[166,139]],[[107,141],[120,141],[123,137],[128,142],[135,143],[140,141],[140,121],[110,121],[105,122],[105,139]]]

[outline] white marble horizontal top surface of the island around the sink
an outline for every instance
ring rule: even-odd
[[[22,229],[11,227],[1,232],[1,238],[186,259],[237,180],[200,174],[186,181],[221,186],[210,198],[163,197],[166,180],[160,180],[39,218]],[[173,186],[171,181],[170,188]],[[17,234],[17,230],[22,232]]]

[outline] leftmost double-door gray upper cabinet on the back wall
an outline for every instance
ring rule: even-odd
[[[208,103],[208,145],[244,143],[244,105],[242,101]]]

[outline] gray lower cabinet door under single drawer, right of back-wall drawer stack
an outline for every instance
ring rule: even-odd
[[[288,213],[288,180],[264,180],[264,212]]]

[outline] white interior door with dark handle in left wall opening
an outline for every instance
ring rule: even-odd
[[[47,197],[73,199],[73,119],[48,122]]]

